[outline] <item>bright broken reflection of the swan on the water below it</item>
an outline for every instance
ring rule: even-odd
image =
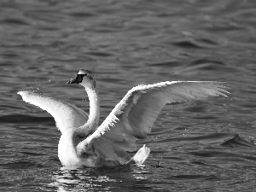
[[[62,167],[54,172],[55,182],[50,187],[57,191],[118,190],[129,188],[147,179],[145,166],[120,166],[111,168],[68,169]],[[143,183],[140,183],[143,184]]]

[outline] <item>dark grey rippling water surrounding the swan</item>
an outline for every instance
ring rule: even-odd
[[[254,191],[256,2],[253,0],[0,2],[1,191]],[[166,106],[143,167],[66,170],[36,90],[88,111],[66,84],[96,73],[102,119],[127,90],[165,80],[227,82],[229,98]]]

